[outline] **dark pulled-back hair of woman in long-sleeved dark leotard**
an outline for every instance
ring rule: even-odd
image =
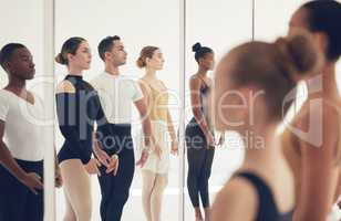
[[[68,39],[63,45],[61,52],[55,56],[55,62],[64,65],[69,65],[68,54],[75,54],[81,43],[86,41],[81,36],[72,36]]]

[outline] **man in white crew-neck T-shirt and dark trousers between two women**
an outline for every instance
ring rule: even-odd
[[[120,74],[120,66],[126,62],[126,52],[120,36],[107,36],[99,44],[99,54],[105,64],[105,71],[92,81],[99,91],[101,104],[110,123],[114,136],[102,136],[99,139],[113,139],[111,146],[105,145],[104,151],[120,156],[120,168],[114,176],[104,173],[99,177],[101,186],[101,218],[103,221],[120,221],[124,204],[130,196],[130,188],[134,177],[135,159],[134,146],[131,135],[132,104],[136,106],[143,119],[144,135],[146,137],[144,149],[137,165],[143,166],[148,157],[148,151],[157,149],[154,137],[151,135],[151,120],[147,116],[143,94],[138,84]],[[105,159],[105,158],[104,158]],[[102,161],[102,159],[100,159]],[[101,167],[100,170],[104,170]]]

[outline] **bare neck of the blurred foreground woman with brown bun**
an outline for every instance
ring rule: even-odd
[[[244,135],[246,148],[242,168],[257,170],[276,168],[283,160],[280,143],[275,134],[276,126],[264,129],[248,130]]]

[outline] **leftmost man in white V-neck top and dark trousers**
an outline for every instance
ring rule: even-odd
[[[39,125],[43,105],[27,90],[35,73],[32,54],[23,44],[9,43],[1,49],[0,64],[9,77],[0,91],[0,220],[42,221],[46,144]]]

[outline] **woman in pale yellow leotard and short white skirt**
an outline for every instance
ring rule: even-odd
[[[140,85],[148,106],[152,123],[152,133],[161,149],[155,149],[142,168],[142,204],[147,221],[161,221],[163,193],[168,182],[169,145],[172,154],[178,151],[177,139],[168,110],[168,93],[166,85],[157,78],[156,72],[164,65],[164,57],[156,46],[145,46],[140,53],[137,66],[145,67],[145,75],[140,80]],[[142,146],[144,146],[142,144]]]

